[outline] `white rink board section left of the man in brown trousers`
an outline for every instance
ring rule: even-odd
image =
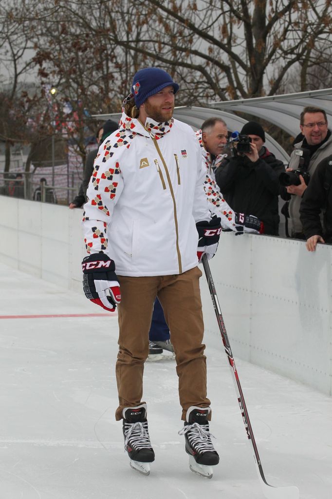
[[[83,211],[0,196],[0,261],[81,291]]]

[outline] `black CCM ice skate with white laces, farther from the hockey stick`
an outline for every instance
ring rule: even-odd
[[[125,407],[122,414],[125,450],[130,457],[130,466],[144,475],[149,475],[150,463],[155,461],[155,453],[149,437],[147,405]]]

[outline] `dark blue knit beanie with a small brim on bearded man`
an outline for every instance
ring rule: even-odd
[[[132,93],[134,95],[136,107],[139,108],[148,97],[172,85],[174,94],[179,89],[172,77],[159,67],[146,67],[137,71],[133,78]]]

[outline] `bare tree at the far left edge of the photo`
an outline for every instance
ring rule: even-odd
[[[2,75],[0,98],[0,140],[5,144],[5,166],[10,167],[10,148],[14,143],[30,143],[40,136],[38,124],[44,125],[42,94],[33,78],[34,51],[32,26],[26,16],[34,11],[37,2],[2,1],[0,4],[0,69]],[[33,120],[33,116],[39,115]],[[33,125],[31,123],[34,123]]]

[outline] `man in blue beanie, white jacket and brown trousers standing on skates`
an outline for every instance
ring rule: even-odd
[[[210,476],[219,457],[208,427],[211,409],[197,263],[204,253],[215,253],[221,226],[208,209],[206,172],[195,134],[172,118],[178,88],[156,67],[134,76],[119,130],[100,146],[87,190],[83,225],[89,255],[82,262],[83,282],[92,301],[107,310],[118,304],[116,419],[123,419],[131,466],[148,474],[154,461],[142,394],[158,296],[172,331],[181,434],[190,467]]]

